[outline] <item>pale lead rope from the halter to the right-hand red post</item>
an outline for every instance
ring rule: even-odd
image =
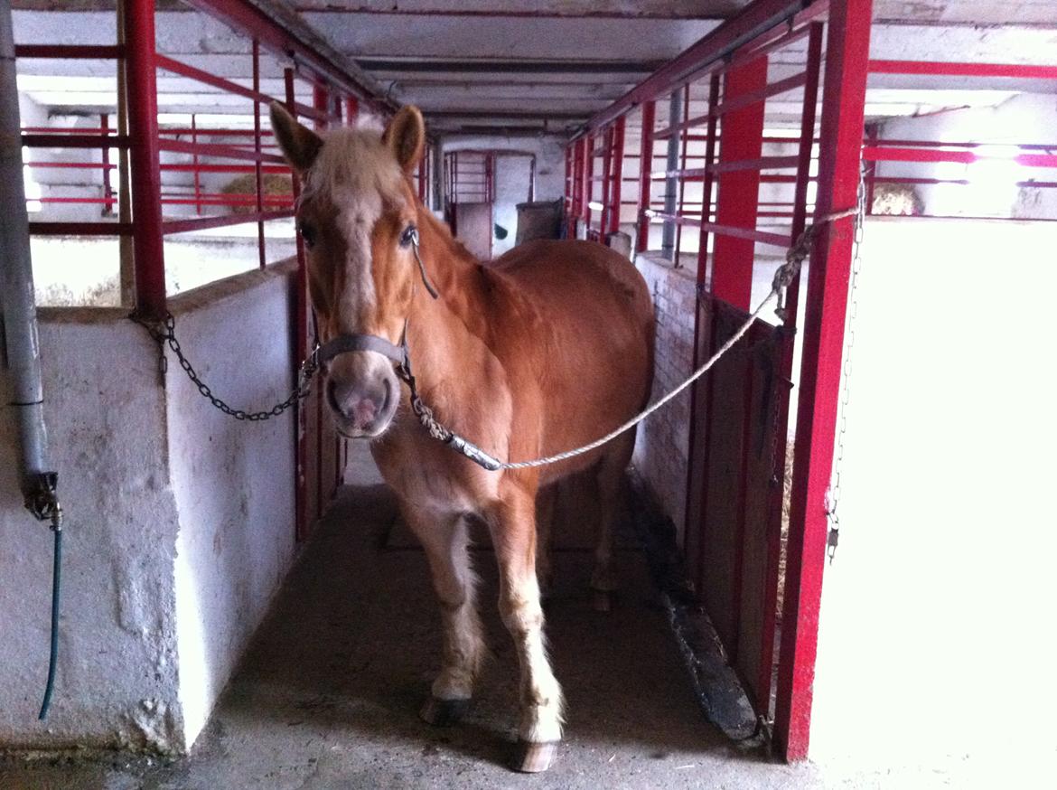
[[[590,444],[585,444],[582,447],[576,447],[574,449],[565,451],[564,453],[558,453],[553,456],[545,456],[543,458],[536,458],[531,461],[500,461],[495,456],[485,453],[479,446],[474,444],[471,441],[459,436],[446,428],[433,415],[432,409],[426,406],[422,398],[419,396],[418,388],[415,386],[414,376],[411,374],[411,357],[407,353],[406,339],[405,339],[405,363],[401,366],[401,376],[407,382],[408,387],[411,390],[411,410],[414,412],[415,417],[419,418],[419,422],[422,423],[431,437],[446,443],[452,449],[466,456],[468,459],[477,464],[480,464],[486,470],[492,472],[497,472],[500,470],[524,470],[533,469],[535,466],[545,466],[546,464],[557,463],[558,461],[563,461],[568,458],[574,458],[585,453],[590,453],[592,449],[596,449],[609,441],[612,441],[625,430],[628,430],[647,417],[652,415],[659,408],[667,404],[673,398],[678,397],[683,390],[689,387],[693,382],[700,379],[702,375],[708,372],[708,370],[719,362],[723,355],[729,351],[735,344],[740,341],[745,333],[748,331],[749,327],[756,321],[763,312],[764,308],[771,304],[771,300],[778,297],[778,307],[776,312],[780,317],[785,315],[785,290],[789,288],[790,283],[796,279],[797,275],[800,273],[800,267],[803,261],[811,254],[811,245],[815,239],[815,235],[818,231],[826,224],[830,222],[835,222],[836,220],[843,219],[845,217],[852,217],[858,212],[858,207],[849,208],[842,212],[834,212],[833,214],[828,214],[817,220],[812,224],[808,225],[803,232],[797,237],[793,246],[790,247],[789,252],[785,253],[785,262],[778,268],[775,272],[775,277],[771,283],[771,293],[766,295],[763,301],[760,302],[759,307],[753,311],[753,313],[745,319],[745,321],[738,327],[738,330],[724,343],[720,349],[708,357],[703,365],[701,365],[690,376],[675,387],[673,390],[664,396],[656,403],[648,406],[643,411],[632,417],[626,423],[619,427],[614,428],[610,433],[600,439],[596,439]],[[419,243],[418,237],[414,239],[414,254],[419,257]],[[421,258],[420,258],[421,261]]]

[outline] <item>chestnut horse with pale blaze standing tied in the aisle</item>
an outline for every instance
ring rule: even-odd
[[[634,430],[552,465],[489,471],[415,419],[404,364],[412,363],[421,403],[498,458],[576,447],[647,403],[649,290],[627,258],[595,242],[532,241],[490,262],[471,256],[412,186],[426,144],[414,107],[402,108],[381,134],[349,127],[317,134],[278,104],[271,120],[301,183],[296,222],[320,338],[324,348],[338,345],[324,355],[329,411],[342,436],[370,441],[440,600],[442,665],[421,716],[437,725],[458,721],[486,653],[467,547],[467,520],[477,517],[495,548],[499,611],[520,666],[513,767],[546,770],[563,723],[538,581],[546,573],[553,484],[587,470],[597,477],[601,526],[591,585],[606,596],[615,589],[613,519]]]

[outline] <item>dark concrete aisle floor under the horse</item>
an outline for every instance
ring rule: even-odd
[[[190,756],[7,761],[0,788],[910,786],[767,763],[726,741],[693,700],[643,557],[631,550],[618,552],[624,587],[609,614],[590,606],[590,554],[556,552],[548,624],[569,703],[567,738],[550,772],[511,772],[516,658],[495,613],[493,556],[476,552],[494,659],[467,718],[431,729],[416,713],[438,666],[439,619],[424,555],[392,548],[393,516],[384,486],[346,492]]]

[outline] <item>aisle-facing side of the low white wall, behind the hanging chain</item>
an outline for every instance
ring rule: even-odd
[[[208,299],[174,299],[179,335],[218,396],[270,408],[294,385],[290,279],[268,272],[236,281],[226,295],[218,283],[203,289]],[[236,421],[202,398],[171,354],[169,371],[180,699],[190,743],[294,556],[294,423],[292,411]]]

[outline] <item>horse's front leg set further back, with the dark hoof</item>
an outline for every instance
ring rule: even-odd
[[[405,506],[403,512],[426,550],[444,621],[441,673],[433,681],[421,716],[430,724],[446,727],[457,722],[469,706],[474,681],[485,654],[477,612],[477,576],[466,546],[466,522],[457,514],[411,506]]]

